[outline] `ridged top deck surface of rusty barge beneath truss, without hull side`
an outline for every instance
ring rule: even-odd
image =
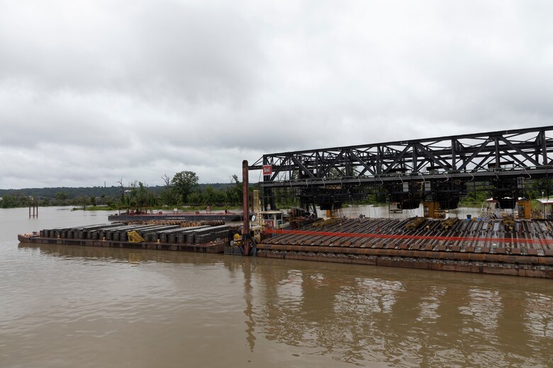
[[[445,222],[434,219],[341,219],[333,220],[328,226],[310,224],[297,230],[267,230],[272,234],[265,243],[301,245],[310,241],[312,245],[322,245],[330,241],[340,246],[345,241],[350,245],[384,241],[394,248],[401,244],[420,247],[432,245],[446,246],[447,251],[474,251],[481,248],[505,248],[510,253],[513,248],[525,254],[527,249],[553,249],[553,223],[549,220],[522,220],[515,225],[505,225],[501,219],[486,221]],[[408,226],[408,227],[406,227]],[[334,244],[336,243],[336,244]],[[501,251],[501,250],[500,250]]]

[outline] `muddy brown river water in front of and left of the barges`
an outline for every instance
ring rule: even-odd
[[[553,280],[17,241],[107,215],[0,209],[0,367],[553,364]]]

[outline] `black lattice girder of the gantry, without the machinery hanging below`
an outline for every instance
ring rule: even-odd
[[[491,167],[508,168],[505,159],[530,174],[530,170],[552,163],[553,126],[265,154],[249,169],[272,165],[273,175],[264,184],[284,186],[298,179],[300,173],[314,182],[332,180],[337,173],[343,178],[371,181],[393,173],[488,172]]]

